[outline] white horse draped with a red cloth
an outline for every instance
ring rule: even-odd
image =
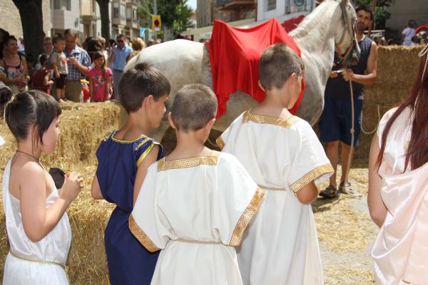
[[[305,64],[306,88],[297,115],[311,124],[320,118],[324,107],[325,84],[332,69],[335,48],[342,55],[345,66],[358,61],[360,48],[355,41],[355,19],[355,9],[348,0],[327,0],[290,32]],[[171,104],[185,84],[203,83],[212,88],[210,58],[203,43],[175,40],[145,48],[129,61],[125,71],[144,61],[158,68],[170,81]],[[256,104],[251,95],[238,90],[230,95],[227,112],[217,120],[214,129],[225,130],[238,115]],[[161,127],[151,133],[152,138],[160,141],[168,126],[168,121],[163,120]]]

